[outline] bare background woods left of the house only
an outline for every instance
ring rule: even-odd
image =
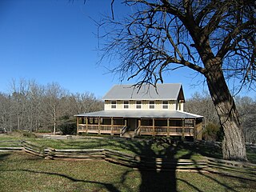
[[[74,114],[103,109],[94,94],[71,94],[58,83],[46,86],[30,80],[13,80],[10,93],[0,93],[0,128],[6,131],[75,130]]]

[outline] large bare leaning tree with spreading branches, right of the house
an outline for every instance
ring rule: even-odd
[[[139,78],[137,85],[163,82],[166,70],[184,66],[202,74],[225,132],[223,158],[246,161],[242,126],[226,81],[234,78],[238,90],[254,86],[254,1],[122,2],[131,10],[126,18],[118,15],[100,23],[103,58],[118,56],[121,64],[114,72],[121,78]],[[112,1],[112,8],[114,3],[118,1]]]

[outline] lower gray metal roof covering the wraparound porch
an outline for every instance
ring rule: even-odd
[[[87,114],[76,114],[76,117],[94,118],[203,118],[177,110],[101,110]]]

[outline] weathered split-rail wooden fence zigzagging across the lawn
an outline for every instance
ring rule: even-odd
[[[18,142],[17,142],[18,143]],[[138,170],[206,171],[256,182],[256,164],[218,158],[191,159],[147,158],[117,150],[59,150],[22,141],[22,150],[46,159],[105,160]],[[1,150],[1,148],[0,148]]]

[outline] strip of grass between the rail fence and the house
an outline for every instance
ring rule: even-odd
[[[55,149],[110,149],[146,157],[161,156],[164,158],[190,158],[193,160],[200,160],[204,156],[222,158],[222,151],[214,146],[188,146],[180,143],[174,147],[166,143],[150,142],[150,140],[145,139],[133,141],[117,138],[46,139],[24,137],[18,132],[8,135],[0,134],[0,146],[4,146],[1,141],[9,140],[26,140],[38,143],[40,146],[48,146]],[[14,143],[14,145],[16,144]],[[250,162],[256,164],[256,151],[247,149],[247,158]]]

